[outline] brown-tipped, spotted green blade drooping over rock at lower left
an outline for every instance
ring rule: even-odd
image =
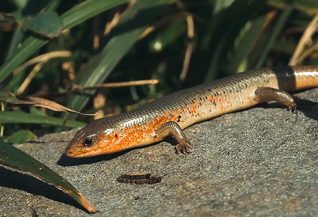
[[[0,164],[11,168],[33,173],[40,179],[50,183],[69,194],[80,205],[86,208],[89,213],[97,212],[97,209],[83,197],[79,191],[73,187],[67,180],[54,172],[48,166],[34,159],[27,153],[0,140]]]

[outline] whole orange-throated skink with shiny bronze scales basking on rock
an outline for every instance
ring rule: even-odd
[[[249,70],[154,100],[130,112],[94,120],[76,132],[69,157],[87,157],[145,146],[172,135],[177,153],[190,153],[183,129],[225,113],[277,101],[295,110],[288,92],[318,86],[318,66]]]

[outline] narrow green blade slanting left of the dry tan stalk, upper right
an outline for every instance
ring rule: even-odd
[[[267,38],[266,40],[266,47],[264,51],[262,52],[261,57],[259,58],[258,63],[256,64],[255,68],[260,68],[263,66],[269,51],[272,49],[277,37],[279,36],[281,30],[283,29],[285,23],[287,22],[288,18],[290,17],[291,13],[294,10],[294,5],[289,4],[280,15],[280,18],[277,20],[277,23],[275,24],[272,34]]]

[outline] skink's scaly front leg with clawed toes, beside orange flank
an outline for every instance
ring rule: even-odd
[[[176,121],[164,123],[156,130],[156,134],[156,137],[159,139],[172,135],[178,142],[178,145],[176,146],[177,154],[179,154],[181,150],[184,154],[190,153],[192,145]]]

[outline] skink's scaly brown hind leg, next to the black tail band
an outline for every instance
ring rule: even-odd
[[[297,113],[297,105],[294,97],[283,90],[272,88],[272,87],[258,87],[255,89],[255,97],[261,102],[276,101],[287,106],[287,111]]]

